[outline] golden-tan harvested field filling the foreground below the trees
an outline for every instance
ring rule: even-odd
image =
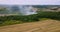
[[[0,32],[60,32],[60,22],[43,20],[40,22],[9,25],[0,27]]]

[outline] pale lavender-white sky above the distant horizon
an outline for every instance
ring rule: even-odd
[[[0,4],[8,5],[60,5],[60,0],[0,0]]]

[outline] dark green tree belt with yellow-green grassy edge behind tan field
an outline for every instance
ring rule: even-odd
[[[24,22],[35,22],[39,21],[41,18],[50,18],[55,20],[60,20],[60,12],[39,12],[38,14],[34,15],[16,15],[16,16],[0,16],[0,24],[2,23],[17,23],[17,21],[20,21],[22,23]],[[19,22],[18,22],[19,23]]]

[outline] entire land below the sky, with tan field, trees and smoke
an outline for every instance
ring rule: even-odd
[[[0,5],[0,32],[60,32],[60,5]]]

